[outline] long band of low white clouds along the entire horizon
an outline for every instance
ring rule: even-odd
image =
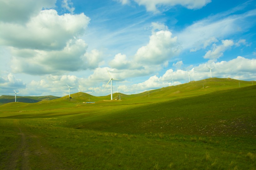
[[[113,82],[113,92],[117,92],[116,83],[118,83],[119,92],[136,94],[146,90],[171,86],[172,78],[174,80],[173,85],[188,83],[188,74],[190,74],[190,81],[209,78],[210,72],[206,66],[214,67],[212,69],[212,77],[235,78],[240,80],[256,79],[256,59],[246,59],[241,56],[229,61],[199,64],[188,70],[178,69],[174,71],[173,69],[169,69],[163,75],[154,75],[139,83],[134,83],[134,79],[131,78],[130,74],[132,73],[132,70],[107,69],[112,78],[123,80]],[[8,76],[0,77],[0,89],[1,91],[8,91],[10,94],[12,94],[13,89],[17,89],[22,95],[31,94],[31,92],[33,92],[34,95],[40,96],[64,96],[68,94],[67,83],[69,86],[76,86],[75,88],[72,88],[71,93],[91,93],[91,91],[94,90],[94,95],[105,96],[110,94],[110,86],[104,88],[109,79],[110,77],[106,68],[96,68],[87,78],[79,78],[75,75],[47,75],[41,76],[41,80],[39,81],[32,80],[27,84],[23,83],[22,80],[15,78],[12,74],[9,74]],[[127,81],[128,79],[129,81]],[[5,88],[7,86],[10,86],[10,88]]]

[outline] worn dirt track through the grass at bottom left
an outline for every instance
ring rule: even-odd
[[[20,135],[20,144],[5,163],[7,169],[66,169],[61,160],[56,158],[49,146],[46,146],[41,137],[32,134],[15,119],[14,124]]]

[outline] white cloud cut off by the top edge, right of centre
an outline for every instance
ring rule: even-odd
[[[210,3],[211,0],[134,0],[139,5],[144,5],[147,11],[158,12],[159,6],[182,5],[188,9],[199,9]]]

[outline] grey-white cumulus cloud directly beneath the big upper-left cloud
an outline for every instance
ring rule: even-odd
[[[79,71],[98,67],[101,53],[86,52],[84,40],[69,40],[63,50],[12,49],[12,71],[33,75],[60,74],[65,71]]]

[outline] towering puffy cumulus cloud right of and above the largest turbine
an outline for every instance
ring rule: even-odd
[[[167,29],[167,30],[159,30]],[[127,57],[116,54],[109,62],[111,68],[121,71],[121,77],[145,76],[167,67],[169,60],[180,53],[177,37],[172,37],[168,27],[152,23],[152,35],[147,45],[140,47],[136,54]]]

